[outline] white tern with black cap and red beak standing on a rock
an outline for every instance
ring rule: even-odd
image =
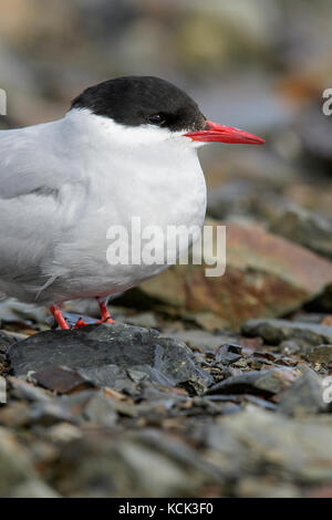
[[[110,227],[133,218],[142,228],[201,227],[197,150],[214,142],[264,143],[207,121],[189,95],[154,76],[98,83],[61,119],[1,131],[1,298],[48,305],[61,329],[65,301],[96,298],[101,321],[113,321],[110,295],[168,266],[110,263]]]

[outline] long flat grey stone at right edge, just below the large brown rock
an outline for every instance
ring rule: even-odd
[[[332,343],[332,326],[287,320],[249,320],[242,325],[242,333],[248,336],[259,335],[270,345],[279,345],[288,340],[300,340],[308,345]]]

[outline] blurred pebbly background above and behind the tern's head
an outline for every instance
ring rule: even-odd
[[[329,0],[1,0],[1,127],[61,117],[87,85],[154,74],[211,121],[268,146],[215,146],[203,160],[210,215],[273,226],[294,202],[332,217]],[[217,202],[216,202],[217,200]],[[276,211],[278,215],[276,215]]]

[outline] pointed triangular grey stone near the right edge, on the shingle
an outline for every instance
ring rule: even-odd
[[[278,410],[286,415],[309,415],[328,409],[323,402],[322,379],[315,372],[307,370],[280,395]]]

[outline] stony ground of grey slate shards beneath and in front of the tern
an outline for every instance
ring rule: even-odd
[[[332,495],[331,318],[211,333],[113,311],[70,332],[3,323],[0,496]]]

